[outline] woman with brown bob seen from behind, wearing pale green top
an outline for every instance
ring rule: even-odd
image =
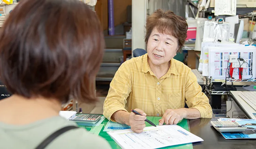
[[[103,49],[100,22],[85,3],[20,1],[0,32],[0,76],[13,94],[0,101],[0,148],[110,148],[59,116],[69,96],[96,101]]]

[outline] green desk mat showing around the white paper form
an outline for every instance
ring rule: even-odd
[[[158,120],[161,119],[161,117],[154,117],[154,116],[147,116],[147,119],[152,121],[154,124],[158,125]],[[93,133],[103,137],[104,139],[106,139],[109,144],[111,145],[111,147],[113,149],[122,149],[109,135],[107,132],[104,132],[104,128],[106,123],[108,123],[108,119],[104,119],[104,121],[99,125],[99,126],[83,126],[80,125],[80,127],[85,128],[87,131],[92,131]],[[104,124],[104,126],[102,126],[102,124]],[[183,119],[181,122],[179,122],[177,125],[181,126],[182,128],[184,128],[185,130],[189,131],[188,129],[188,123],[186,119]],[[146,122],[146,126],[151,126],[149,123]],[[98,129],[98,131],[97,131]],[[101,129],[101,131],[99,132],[99,129]],[[99,133],[98,133],[99,132]],[[171,147],[163,147],[161,149],[193,149],[193,145],[192,143],[188,143],[188,144],[183,144],[183,145],[175,145],[175,146],[171,146]]]

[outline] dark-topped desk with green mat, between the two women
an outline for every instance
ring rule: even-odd
[[[147,117],[149,120],[154,122],[155,124],[158,123],[158,120],[161,117]],[[188,120],[188,127],[191,133],[201,137],[204,141],[199,143],[193,143],[193,149],[255,149],[256,141],[249,140],[249,139],[233,139],[233,140],[226,140],[221,133],[217,132],[213,126],[211,125],[210,121],[216,121],[217,119],[208,119],[208,118],[201,118],[201,119],[194,119]],[[103,132],[106,123],[108,122],[105,119],[102,124],[104,124],[99,136],[105,138],[113,149],[121,149],[117,143],[106,133]],[[188,129],[186,120],[183,120],[179,125],[181,125],[184,129]],[[146,126],[151,126],[146,122]],[[89,130],[89,128],[86,128]],[[192,144],[187,144],[186,147],[184,145],[179,145],[175,147],[166,147],[172,149],[187,149],[192,148]],[[161,149],[166,149],[161,148]]]

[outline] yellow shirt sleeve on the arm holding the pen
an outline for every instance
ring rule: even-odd
[[[125,104],[127,103],[127,97],[131,92],[131,72],[127,65],[127,62],[124,62],[119,69],[117,70],[114,78],[110,83],[110,88],[108,95],[104,101],[103,105],[103,115],[110,121],[111,116],[118,110],[124,110]]]

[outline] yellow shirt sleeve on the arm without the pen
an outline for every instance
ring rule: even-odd
[[[212,107],[209,104],[209,99],[202,92],[202,88],[191,70],[189,70],[186,78],[185,98],[189,108],[199,110],[201,118],[212,118]]]

